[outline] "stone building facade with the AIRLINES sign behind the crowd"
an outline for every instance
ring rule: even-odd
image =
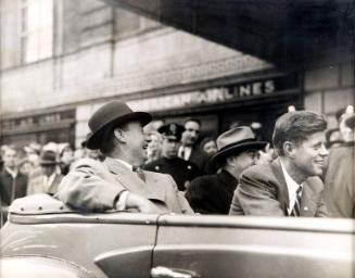
[[[355,102],[353,53],[280,70],[99,0],[0,3],[0,144],[77,147],[111,99],[156,121],[196,116],[210,136],[254,123],[265,139],[289,105],[334,126],[335,111]]]

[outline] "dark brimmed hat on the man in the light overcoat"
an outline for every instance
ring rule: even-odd
[[[91,150],[100,149],[102,135],[106,128],[132,121],[140,121],[145,126],[152,121],[152,116],[145,112],[134,112],[123,101],[114,100],[104,104],[89,119],[91,135],[87,139],[86,147]]]

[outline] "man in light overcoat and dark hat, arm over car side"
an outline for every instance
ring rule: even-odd
[[[74,163],[56,197],[81,211],[192,213],[169,175],[139,168],[147,149],[143,126],[151,119],[149,113],[134,112],[122,101],[101,106],[89,119],[87,148],[99,149],[105,160]]]

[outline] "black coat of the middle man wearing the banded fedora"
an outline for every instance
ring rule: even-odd
[[[228,214],[238,180],[227,170],[195,178],[186,192],[192,210],[201,214]]]

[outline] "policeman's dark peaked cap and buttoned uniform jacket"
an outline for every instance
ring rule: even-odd
[[[163,137],[175,138],[179,141],[183,130],[185,128],[178,124],[168,124],[162,126],[157,131],[162,134]],[[193,162],[185,161],[177,155],[175,157],[160,157],[145,164],[143,169],[169,174],[180,191],[185,191],[187,184],[200,176],[199,167]]]

